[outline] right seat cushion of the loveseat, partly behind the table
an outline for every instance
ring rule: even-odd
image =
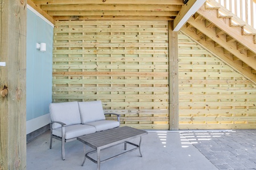
[[[117,128],[120,124],[118,121],[101,120],[87,123],[86,125],[94,126],[96,131],[102,131],[112,128]]]

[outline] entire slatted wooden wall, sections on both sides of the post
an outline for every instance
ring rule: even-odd
[[[167,22],[56,22],[54,33],[53,102],[101,100],[122,126],[169,128]],[[255,129],[255,105],[255,84],[179,34],[179,129]]]

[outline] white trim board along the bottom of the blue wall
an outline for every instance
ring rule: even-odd
[[[49,122],[51,122],[51,117],[49,113],[27,121],[27,134],[31,133],[32,131],[38,130],[39,128],[42,128],[43,126],[48,125]]]

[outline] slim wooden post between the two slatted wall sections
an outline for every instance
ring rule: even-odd
[[[169,88],[170,88],[170,130],[179,129],[179,67],[178,37],[174,30],[174,22],[168,22],[169,40]]]

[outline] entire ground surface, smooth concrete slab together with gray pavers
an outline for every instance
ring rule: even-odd
[[[101,164],[101,169],[256,169],[256,130],[226,131],[148,131],[139,151]],[[133,142],[139,142],[134,139]],[[79,141],[66,143],[66,159],[61,160],[61,142],[49,149],[49,131],[27,143],[27,169],[96,169],[84,159]],[[89,146],[88,151],[92,150]],[[104,155],[123,150],[123,145],[108,148]],[[103,158],[104,159],[104,158]]]

